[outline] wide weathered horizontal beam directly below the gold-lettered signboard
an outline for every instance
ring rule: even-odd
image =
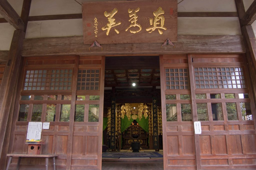
[[[100,43],[100,42],[99,42]],[[164,43],[164,42],[163,42]],[[25,39],[22,56],[41,55],[135,55],[175,53],[245,53],[243,37],[234,36],[178,36],[178,42],[162,47],[162,43],[101,44],[90,48],[83,37],[52,37]],[[162,47],[162,48],[161,48]]]

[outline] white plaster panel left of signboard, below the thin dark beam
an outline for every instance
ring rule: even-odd
[[[25,38],[82,36],[82,19],[28,22]]]

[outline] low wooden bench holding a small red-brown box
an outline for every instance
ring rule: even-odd
[[[56,157],[56,156],[58,156],[58,155],[46,155],[46,154],[40,154],[40,155],[28,155],[28,154],[7,154],[7,156],[10,156],[10,157],[9,157],[9,160],[8,160],[8,164],[7,164],[6,170],[8,170],[8,169],[9,169],[9,166],[10,166],[10,163],[11,163],[11,161],[12,161],[13,156],[17,156],[17,157],[19,157],[16,170],[18,170],[18,169],[19,169],[19,163],[20,163],[20,159],[21,159],[21,157],[45,158],[45,167],[46,167],[46,170],[48,170],[48,162],[49,162],[49,158],[50,158],[50,157],[52,157],[52,159],[53,159],[53,167],[54,167],[54,170],[56,170],[56,168],[55,168],[55,157]]]

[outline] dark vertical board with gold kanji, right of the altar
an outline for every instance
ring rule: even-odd
[[[157,97],[152,97],[152,119],[153,119],[153,149],[159,149],[158,141],[158,117],[157,117]]]

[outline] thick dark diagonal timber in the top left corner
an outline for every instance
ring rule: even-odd
[[[6,1],[0,1],[0,14],[17,30],[24,31],[24,22],[13,9],[13,7]]]

